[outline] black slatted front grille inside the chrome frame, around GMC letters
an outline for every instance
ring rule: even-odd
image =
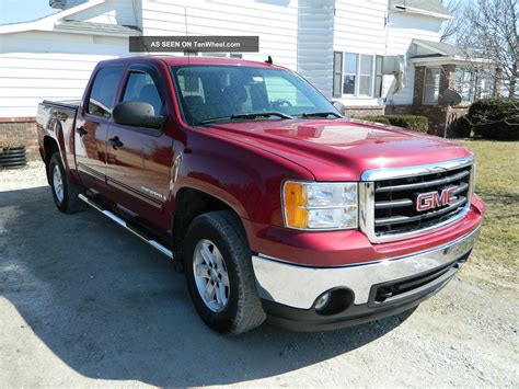
[[[406,233],[447,221],[463,213],[469,202],[471,167],[374,182],[374,233]],[[441,205],[441,194],[449,192],[449,203]],[[435,206],[418,210],[419,195]],[[445,194],[447,195],[447,194]]]

